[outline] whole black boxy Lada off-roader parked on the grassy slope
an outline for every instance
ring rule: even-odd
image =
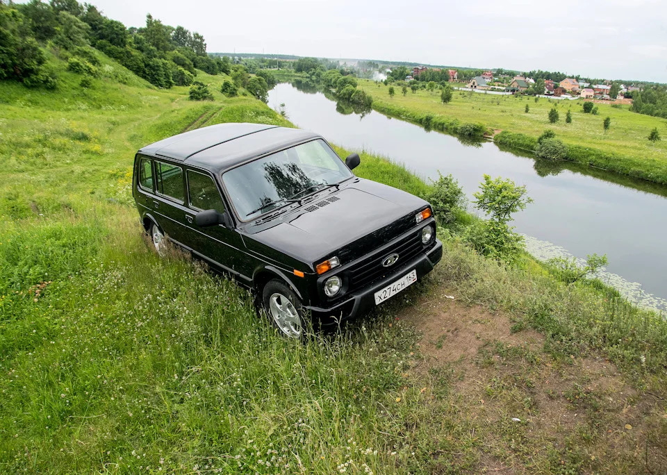
[[[165,240],[252,288],[283,333],[379,305],[442,257],[431,207],[354,176],[320,135],[220,124],[147,145],[133,196],[156,251]]]

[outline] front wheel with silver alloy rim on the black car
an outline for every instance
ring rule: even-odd
[[[262,291],[263,308],[272,324],[287,338],[302,338],[304,308],[289,285],[279,279],[267,282]]]

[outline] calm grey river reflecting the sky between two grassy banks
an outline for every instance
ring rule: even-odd
[[[527,235],[529,251],[539,258],[607,253],[603,280],[645,305],[667,309],[667,188],[599,172],[589,176],[588,169],[544,170],[533,158],[491,142],[462,144],[377,112],[344,115],[321,92],[287,83],[269,93],[272,108],[281,103],[290,121],[330,142],[379,153],[422,178],[451,173],[469,198],[485,173],[526,185],[534,203],[516,215],[514,225]]]

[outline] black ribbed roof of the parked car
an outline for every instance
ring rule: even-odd
[[[217,124],[179,133],[142,147],[139,153],[170,158],[223,172],[250,158],[290,147],[320,135],[267,124]]]

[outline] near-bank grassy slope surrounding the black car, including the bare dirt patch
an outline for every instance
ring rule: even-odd
[[[88,90],[49,61],[55,92],[0,82],[0,472],[667,469],[656,315],[443,230],[425,281],[341,335],[283,340],[233,283],[151,252],[130,180],[168,135],[290,124],[222,76],[200,72],[215,101],[193,103],[106,58]],[[365,153],[355,173],[429,190]]]

